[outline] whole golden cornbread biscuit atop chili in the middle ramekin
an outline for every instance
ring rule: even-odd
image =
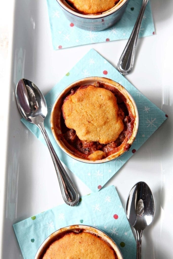
[[[124,128],[116,97],[105,88],[79,88],[64,100],[62,111],[66,126],[83,141],[107,144],[115,141]]]

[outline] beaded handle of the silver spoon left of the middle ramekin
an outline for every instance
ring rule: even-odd
[[[57,177],[58,177],[58,181],[59,181],[63,199],[66,204],[68,204],[70,206],[75,206],[79,202],[79,193],[78,193],[77,189],[74,187],[70,178],[68,177],[54,148],[52,147],[50,139],[45,130],[44,123],[40,122],[40,123],[38,123],[37,126],[40,129],[41,133],[43,134],[47,147],[49,148],[49,152],[51,154],[51,157],[52,157],[55,169],[56,169],[56,173],[57,173]]]

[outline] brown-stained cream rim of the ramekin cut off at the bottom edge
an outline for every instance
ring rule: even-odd
[[[35,257],[34,257],[34,259],[42,259],[42,257],[44,255],[45,251],[47,250],[47,248],[55,240],[58,240],[59,238],[61,238],[62,236],[64,236],[65,234],[67,234],[69,232],[79,233],[80,231],[81,232],[91,233],[93,235],[98,236],[103,241],[105,241],[108,244],[109,247],[111,247],[114,250],[114,252],[115,252],[115,254],[117,256],[117,259],[123,259],[123,256],[122,256],[119,248],[117,247],[115,242],[106,233],[104,233],[103,231],[101,231],[98,228],[91,227],[91,226],[86,226],[86,225],[72,225],[72,226],[60,228],[56,232],[52,233],[41,244],[41,246],[39,247],[39,249],[38,249],[38,251],[37,251],[37,253],[36,253]],[[58,258],[58,255],[57,255],[57,258]]]

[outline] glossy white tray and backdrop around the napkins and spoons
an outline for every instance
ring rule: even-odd
[[[126,78],[169,117],[107,186],[111,184],[116,186],[123,206],[131,187],[136,182],[145,181],[150,186],[155,198],[156,212],[153,224],[143,234],[142,255],[147,259],[171,259],[173,258],[173,1],[153,0],[151,7],[156,35],[139,39],[135,67]],[[0,75],[3,91],[0,118],[3,152],[1,152],[0,182],[2,221],[0,255],[2,259],[18,259],[22,258],[22,255],[12,224],[63,203],[48,149],[20,123],[14,95],[17,80],[20,79],[18,76],[30,79],[46,94],[91,48],[116,67],[127,41],[53,51],[46,1],[16,0],[14,10],[8,2],[3,4],[1,13],[0,28],[3,33],[0,36],[0,64],[3,62],[3,66]],[[13,35],[10,30],[8,37],[8,24],[11,20]],[[7,66],[7,42],[11,36],[10,63]],[[15,64],[19,50],[21,66],[20,71],[17,71]],[[7,149],[5,152],[4,147]],[[81,195],[90,192],[77,177],[72,174],[70,176]]]

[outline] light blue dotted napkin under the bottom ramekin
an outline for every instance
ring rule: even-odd
[[[57,206],[13,225],[24,259],[33,259],[41,243],[69,225],[90,225],[106,232],[124,259],[136,257],[136,241],[114,186],[86,195],[75,207]]]

